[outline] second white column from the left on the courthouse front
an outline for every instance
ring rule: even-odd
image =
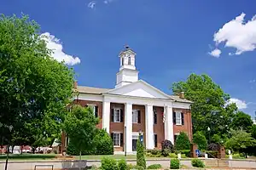
[[[125,150],[132,152],[132,104],[125,104]]]

